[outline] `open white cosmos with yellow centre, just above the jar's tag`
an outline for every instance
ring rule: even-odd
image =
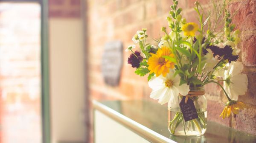
[[[148,81],[148,86],[152,88],[150,97],[153,99],[159,99],[158,103],[165,104],[168,101],[177,102],[178,95],[187,95],[189,93],[189,85],[180,85],[180,76],[174,77],[174,70],[170,69],[170,72],[163,77],[153,77]]]

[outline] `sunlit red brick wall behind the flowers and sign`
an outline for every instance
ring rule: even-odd
[[[199,0],[203,7],[211,8],[208,0]],[[179,0],[183,17],[197,21],[193,9],[195,0]],[[118,87],[106,85],[102,78],[101,61],[105,42],[121,40],[124,48],[133,44],[131,37],[141,28],[148,29],[149,40],[163,33],[161,26],[167,26],[172,0],[87,0],[89,89],[93,99],[149,98],[151,89],[147,79],[134,74],[134,68],[127,64],[129,53],[124,52],[121,79]],[[246,95],[239,100],[249,105],[239,115],[229,119],[218,117],[224,108],[225,98],[216,85],[208,85],[208,118],[226,126],[256,135],[256,0],[232,0],[228,9],[237,10],[233,22],[241,30],[240,61],[245,65],[244,73],[249,79]]]

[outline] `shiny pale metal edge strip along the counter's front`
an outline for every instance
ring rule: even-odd
[[[175,141],[160,135],[157,132],[148,129],[147,127],[143,126],[140,123],[137,123],[134,120],[126,117],[125,115],[116,112],[115,110],[101,104],[100,102],[93,100],[93,108],[99,110],[100,112],[104,113],[108,117],[112,118],[114,121],[121,123],[122,125],[131,129],[131,131],[136,132],[141,137],[145,138],[146,140],[152,143],[176,143]]]

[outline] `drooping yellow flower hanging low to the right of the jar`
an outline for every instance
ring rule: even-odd
[[[230,117],[231,111],[234,114],[238,114],[239,109],[244,109],[244,108],[247,108],[247,106],[243,102],[239,102],[239,101],[227,102],[226,107],[222,111],[220,117],[222,116],[223,119],[226,117]]]

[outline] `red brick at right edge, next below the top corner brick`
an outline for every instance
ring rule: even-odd
[[[244,35],[241,39],[242,62],[245,66],[256,66],[256,35]]]

